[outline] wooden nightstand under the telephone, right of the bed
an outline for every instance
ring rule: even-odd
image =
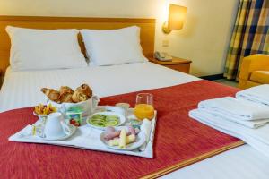
[[[192,63],[191,60],[182,59],[178,57],[173,57],[172,61],[166,61],[166,62],[156,60],[155,58],[150,58],[150,61],[154,64],[160,64],[170,69],[185,73],[189,73],[190,64]]]

